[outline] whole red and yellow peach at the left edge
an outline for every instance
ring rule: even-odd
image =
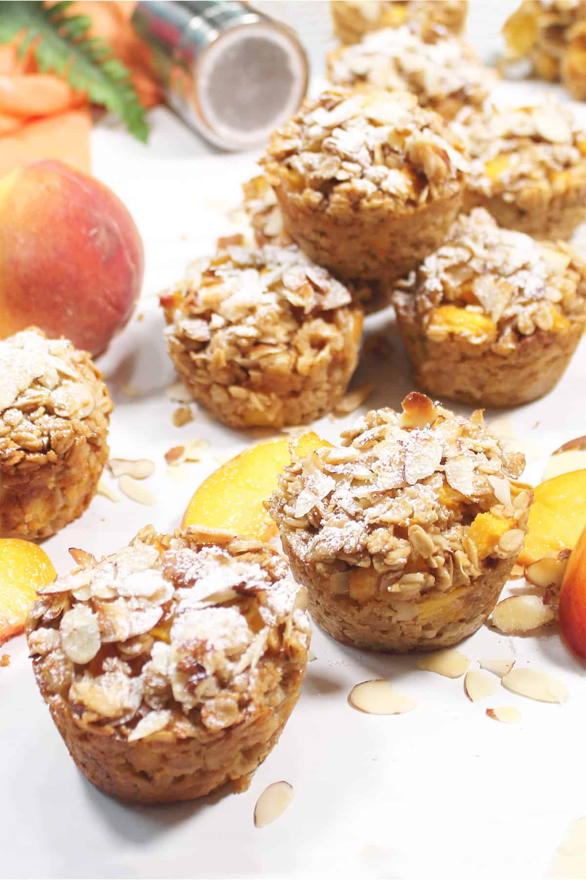
[[[141,292],[144,254],[126,206],[54,160],[0,180],[0,339],[26,326],[98,355]]]

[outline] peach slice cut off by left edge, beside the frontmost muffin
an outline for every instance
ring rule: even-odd
[[[23,631],[37,588],[56,576],[40,546],[19,538],[0,539],[0,645]]]

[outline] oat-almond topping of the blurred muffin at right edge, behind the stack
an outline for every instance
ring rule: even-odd
[[[570,186],[586,187],[586,133],[567,107],[487,107],[464,111],[458,122],[472,157],[468,188],[474,192],[500,195],[531,212]]]

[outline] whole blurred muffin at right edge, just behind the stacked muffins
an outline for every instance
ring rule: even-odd
[[[472,161],[464,210],[534,238],[569,238],[586,217],[586,132],[567,107],[464,111],[461,135]]]

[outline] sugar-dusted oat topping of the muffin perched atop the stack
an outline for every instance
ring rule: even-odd
[[[413,207],[458,192],[459,139],[409,92],[330,88],[273,133],[262,160],[271,184],[331,216]]]

